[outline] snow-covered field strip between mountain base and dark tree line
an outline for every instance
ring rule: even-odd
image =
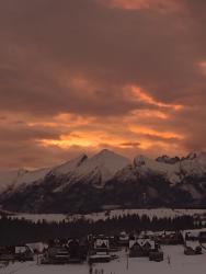
[[[108,212],[102,212],[102,213],[93,213],[93,214],[88,214],[88,215],[62,215],[62,214],[16,214],[11,216],[12,218],[24,218],[27,220],[33,220],[33,221],[38,221],[38,220],[46,220],[48,222],[50,221],[72,221],[77,219],[84,218],[87,220],[104,220],[107,219],[108,217],[118,217],[118,216],[124,216],[124,215],[133,215],[133,214],[138,214],[139,216],[147,215],[149,218],[152,217],[158,217],[158,218],[163,218],[163,217],[171,217],[175,218],[178,216],[194,216],[195,214],[203,215],[206,214],[206,209],[170,209],[170,208],[156,208],[156,209],[115,209]]]

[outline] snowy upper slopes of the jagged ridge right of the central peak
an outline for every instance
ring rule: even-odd
[[[187,178],[206,176],[206,152],[190,153],[185,158],[159,157],[157,160],[145,156],[138,156],[134,163],[121,172],[122,181],[135,181],[138,176],[159,174],[165,178],[170,184],[175,185]]]

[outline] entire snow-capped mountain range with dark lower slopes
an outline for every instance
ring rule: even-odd
[[[205,207],[206,152],[184,158],[110,150],[35,171],[0,172],[3,209],[27,213],[89,213],[103,208]]]

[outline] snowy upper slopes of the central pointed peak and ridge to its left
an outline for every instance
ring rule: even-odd
[[[16,170],[0,172],[0,192],[18,190],[27,184],[42,182],[46,175],[67,176],[62,190],[70,182],[84,181],[94,185],[103,184],[111,179],[118,170],[129,163],[129,160],[110,150],[102,150],[100,153],[88,158],[85,155],[71,159],[60,165],[39,169],[34,171]],[[57,190],[57,191],[59,191]]]

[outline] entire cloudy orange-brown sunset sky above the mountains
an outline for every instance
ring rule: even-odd
[[[206,149],[205,0],[0,0],[0,169]]]

